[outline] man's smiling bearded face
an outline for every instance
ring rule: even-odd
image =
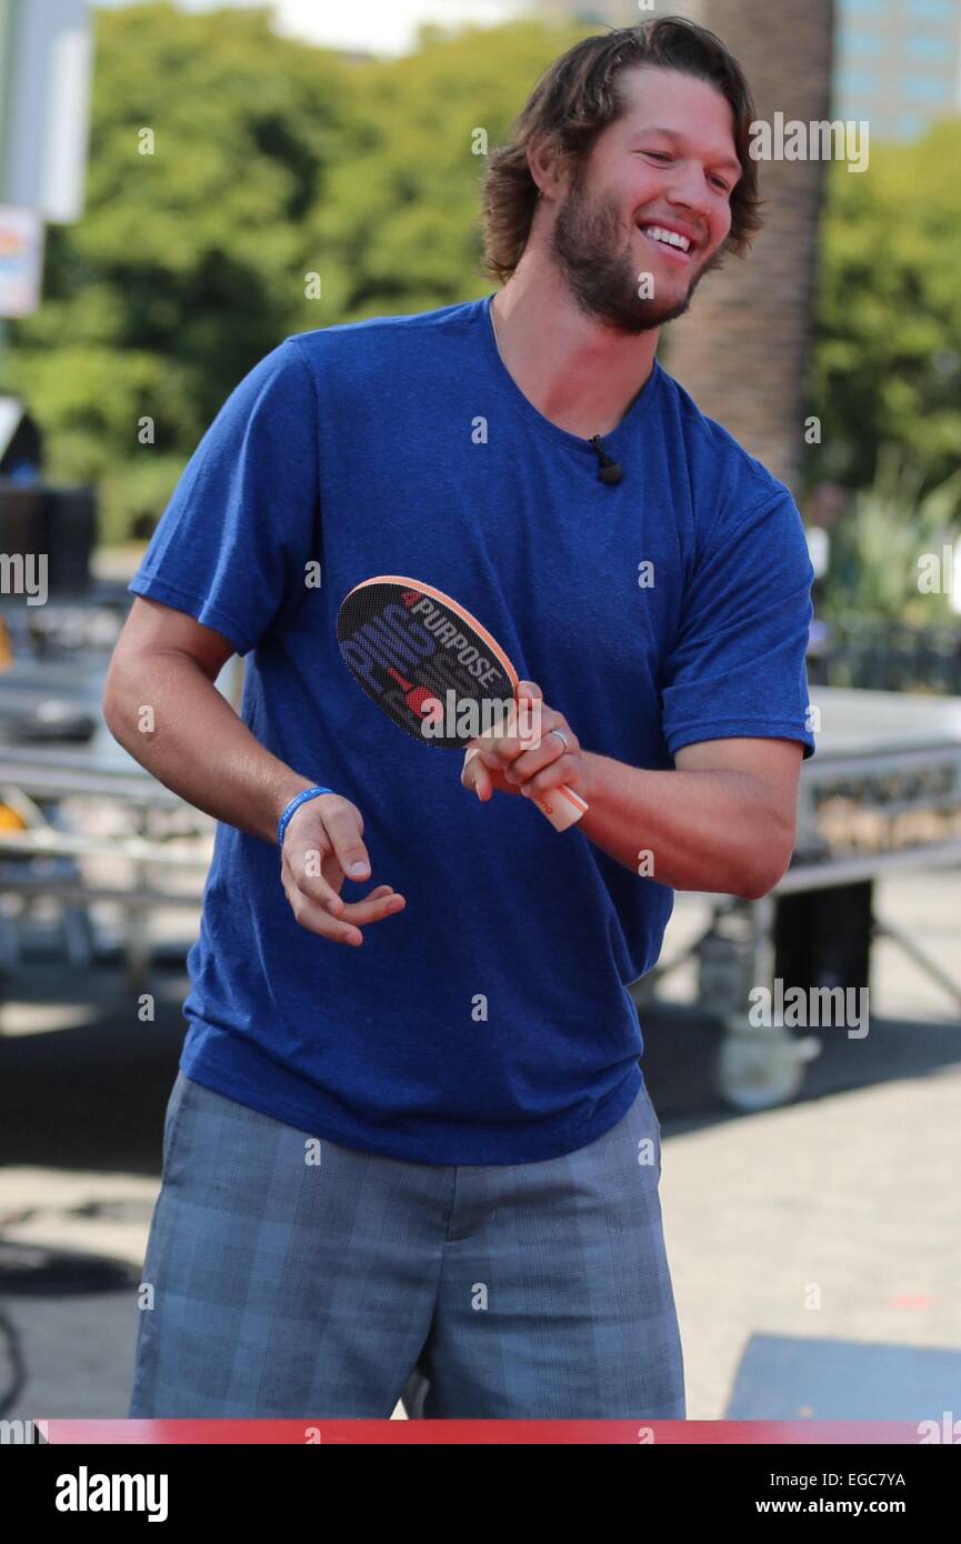
[[[742,168],[712,85],[649,65],[620,85],[626,111],[575,164],[548,241],[579,309],[638,334],[688,310],[731,230]]]

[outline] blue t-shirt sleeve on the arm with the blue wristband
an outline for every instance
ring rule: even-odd
[[[317,398],[295,338],[230,394],[130,582],[246,655],[303,594],[320,519]]]

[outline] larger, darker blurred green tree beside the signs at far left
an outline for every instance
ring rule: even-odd
[[[53,474],[99,482],[108,536],[159,514],[224,397],[294,330],[346,76],[266,11],[96,14],[87,208],[48,233],[9,374]]]

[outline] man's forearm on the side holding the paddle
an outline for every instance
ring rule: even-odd
[[[783,872],[777,854],[790,838],[760,778],[646,770],[590,750],[584,757],[590,809],[578,829],[633,874],[672,889],[756,899]]]

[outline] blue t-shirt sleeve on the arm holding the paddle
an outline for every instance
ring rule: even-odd
[[[701,740],[797,740],[808,727],[805,655],[814,570],[786,488],[740,520],[718,517],[689,584],[664,670],[674,755]]]

